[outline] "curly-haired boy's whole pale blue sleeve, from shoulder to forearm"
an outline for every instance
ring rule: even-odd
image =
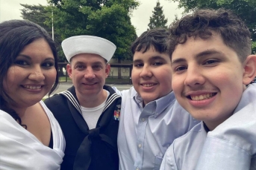
[[[243,92],[234,114],[207,134],[196,170],[256,169],[256,84]]]

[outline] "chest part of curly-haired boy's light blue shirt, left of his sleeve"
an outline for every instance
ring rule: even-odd
[[[187,134],[178,137],[167,149],[160,170],[196,169],[196,163],[199,160],[206,137],[207,131],[205,131],[203,122],[197,124]]]

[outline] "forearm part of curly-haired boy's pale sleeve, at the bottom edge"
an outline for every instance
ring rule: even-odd
[[[249,170],[251,155],[232,143],[207,137],[196,170]]]

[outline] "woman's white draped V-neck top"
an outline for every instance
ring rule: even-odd
[[[63,161],[65,139],[53,114],[40,101],[51,124],[53,148],[44,146],[10,114],[0,110],[0,169],[1,170],[57,170]]]

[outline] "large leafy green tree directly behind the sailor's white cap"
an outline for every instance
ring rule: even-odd
[[[130,14],[137,0],[49,0],[54,13],[55,33],[69,36],[91,35],[116,45],[113,58],[131,59],[130,45],[136,38]],[[46,21],[51,25],[51,19]]]

